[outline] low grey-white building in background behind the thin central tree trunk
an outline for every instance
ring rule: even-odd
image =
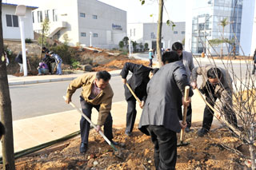
[[[185,22],[175,22],[176,26],[167,26],[162,23],[162,47],[170,49],[174,42],[182,42],[185,38]],[[127,35],[131,41],[138,44],[148,43],[150,49],[156,49],[158,23],[130,23],[127,26]]]

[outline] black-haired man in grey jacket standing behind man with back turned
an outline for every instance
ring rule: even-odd
[[[184,51],[182,43],[180,42],[174,42],[171,49],[173,49],[178,53],[179,60],[182,61],[183,65],[185,66],[186,75],[187,75],[188,81],[190,82],[191,72],[192,72],[192,69],[194,69],[192,53]],[[180,120],[182,120],[182,106],[178,109],[178,117]],[[190,132],[191,121],[192,121],[192,107],[191,105],[189,105],[187,107],[187,112],[186,112],[186,124],[187,124],[185,128],[186,132]]]

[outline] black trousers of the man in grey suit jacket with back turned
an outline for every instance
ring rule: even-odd
[[[146,129],[154,143],[155,168],[161,170],[175,169],[177,160],[176,132],[158,125],[149,125]]]

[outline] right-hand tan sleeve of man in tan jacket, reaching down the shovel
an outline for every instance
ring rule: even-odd
[[[102,101],[102,104],[99,107],[97,125],[105,124],[106,117],[108,117],[108,115],[110,114],[113,96],[114,93],[112,92],[106,97],[106,99]]]

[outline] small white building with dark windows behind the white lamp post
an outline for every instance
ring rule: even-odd
[[[4,39],[20,39],[18,16],[15,15],[16,4],[2,2],[2,36]],[[26,16],[22,17],[25,26],[25,38],[34,39],[31,11],[38,7],[26,6]]]

